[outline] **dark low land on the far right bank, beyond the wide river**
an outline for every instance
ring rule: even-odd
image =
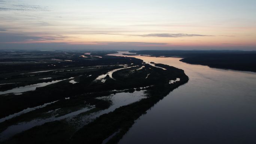
[[[189,64],[207,65],[223,68],[256,72],[256,51],[236,50],[141,50],[130,51],[140,55],[180,57],[180,61]]]

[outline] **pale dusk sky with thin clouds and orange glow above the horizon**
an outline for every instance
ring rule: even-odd
[[[256,0],[0,0],[0,49],[256,50]]]

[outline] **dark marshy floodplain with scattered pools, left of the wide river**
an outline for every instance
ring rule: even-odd
[[[136,119],[188,82],[178,68],[108,53],[0,52],[0,143],[118,143]]]

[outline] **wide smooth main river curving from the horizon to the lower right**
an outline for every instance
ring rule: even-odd
[[[136,120],[119,144],[256,144],[256,73],[129,57],[183,69],[189,82]]]

